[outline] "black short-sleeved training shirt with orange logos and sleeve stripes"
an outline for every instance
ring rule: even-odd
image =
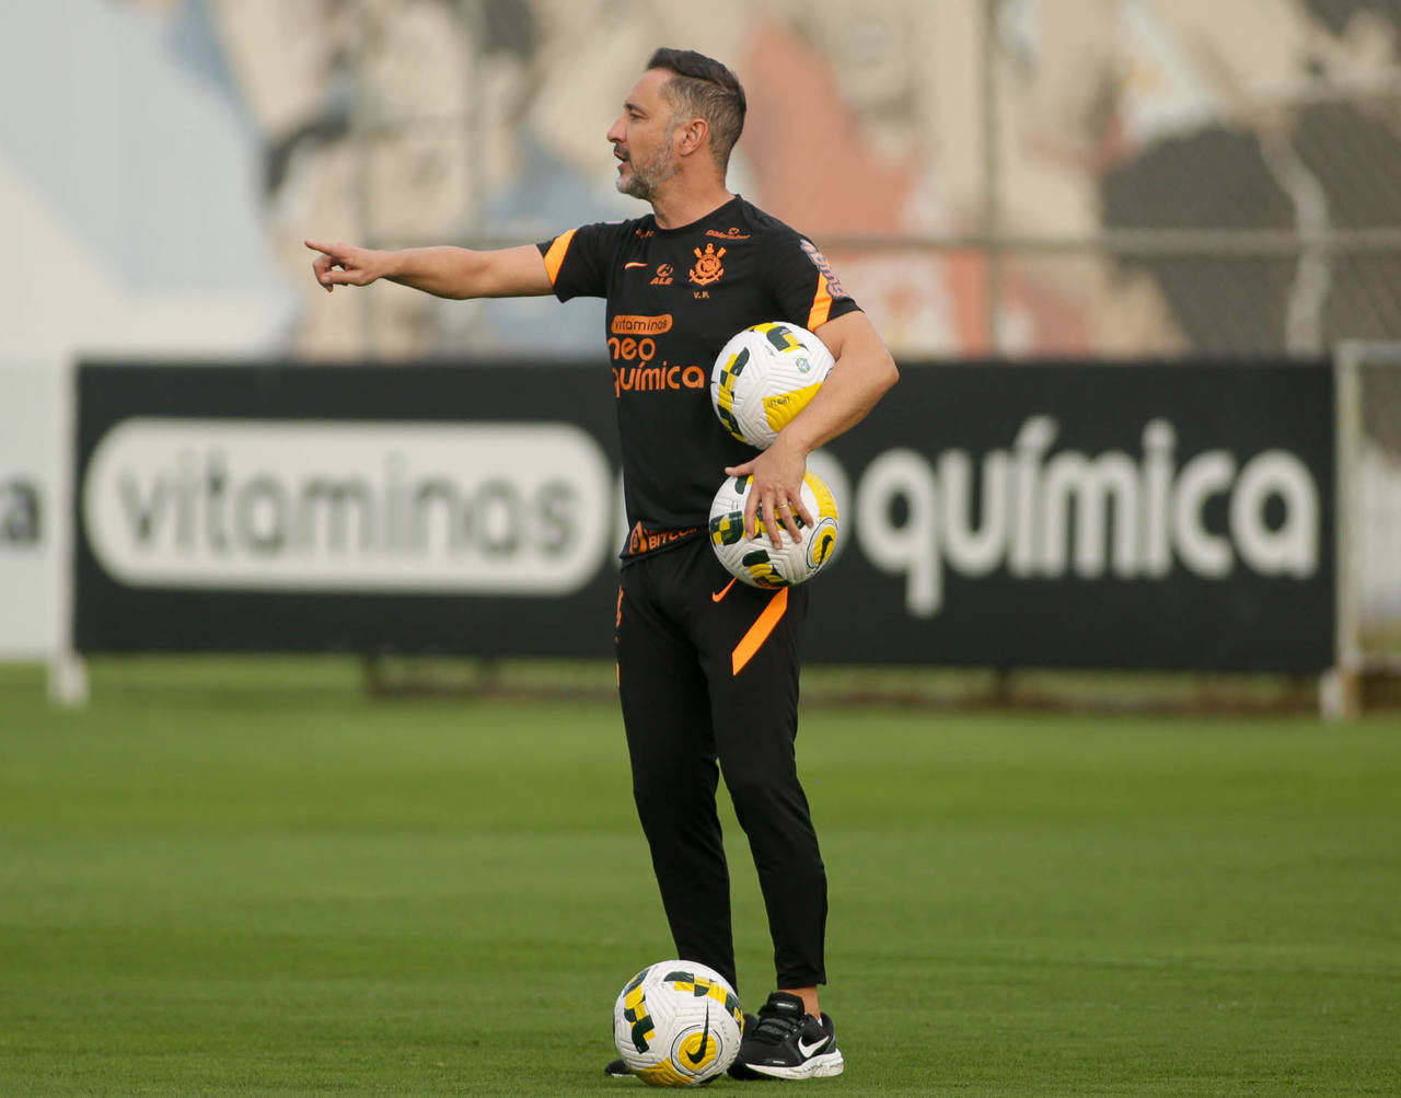
[[[539,251],[560,301],[608,300],[628,524],[649,529],[703,528],[724,466],[757,452],[710,405],[730,336],[765,321],[815,331],[857,308],[811,241],[738,196],[681,228],[647,214]]]

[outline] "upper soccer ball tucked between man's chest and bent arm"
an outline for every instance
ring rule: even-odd
[[[832,366],[832,352],[806,328],[757,324],[722,347],[710,371],[710,403],[730,434],[768,450]]]

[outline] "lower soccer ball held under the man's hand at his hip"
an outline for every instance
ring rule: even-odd
[[[839,524],[831,489],[814,473],[803,478],[803,503],[814,525],[806,527],[794,511],[799,541],[780,527],[783,548],[778,549],[755,514],[755,536],[744,536],[744,504],[751,478],[727,476],[710,503],[710,548],[731,576],[750,587],[792,587],[811,580],[832,559]]]

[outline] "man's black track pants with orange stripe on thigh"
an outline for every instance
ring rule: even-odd
[[[807,588],[738,581],[702,536],[623,566],[618,689],[633,797],[678,955],[736,987],[724,774],[750,839],[779,987],[827,982],[827,873],[797,779],[799,630]]]

